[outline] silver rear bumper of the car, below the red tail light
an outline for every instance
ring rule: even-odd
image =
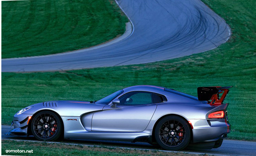
[[[193,143],[215,142],[230,133],[230,124],[225,119],[191,119],[193,125]]]

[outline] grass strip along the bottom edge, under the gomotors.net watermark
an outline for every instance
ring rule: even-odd
[[[66,145],[52,143],[36,143],[36,142],[17,142],[11,140],[2,140],[2,155],[44,155],[44,156],[196,156],[198,154],[161,152],[158,150],[136,150],[136,149],[120,149],[110,147],[88,147],[84,145]],[[6,150],[33,150],[33,153],[6,153]],[[208,155],[204,155],[208,156]]]

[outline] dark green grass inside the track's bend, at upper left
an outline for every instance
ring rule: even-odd
[[[2,58],[95,46],[125,32],[114,0],[2,1]]]

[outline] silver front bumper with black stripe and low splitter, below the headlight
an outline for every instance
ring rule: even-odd
[[[27,135],[30,116],[32,116],[32,114],[15,114],[12,121],[14,129],[10,130],[7,135]]]

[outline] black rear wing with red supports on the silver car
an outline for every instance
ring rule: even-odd
[[[198,87],[197,95],[198,100],[208,101],[211,105],[221,105],[225,100],[227,93],[229,92],[229,87]],[[220,97],[220,94],[223,93]]]

